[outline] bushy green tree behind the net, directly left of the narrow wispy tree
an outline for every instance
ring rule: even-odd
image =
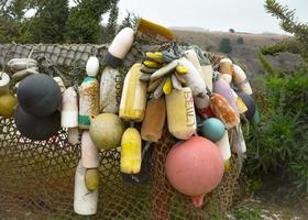
[[[101,15],[118,0],[82,0],[70,9],[66,23],[69,43],[101,43],[103,26]]]

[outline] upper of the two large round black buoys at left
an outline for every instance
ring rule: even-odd
[[[47,75],[35,74],[23,79],[18,88],[18,101],[24,111],[35,117],[46,117],[61,105],[61,89]]]

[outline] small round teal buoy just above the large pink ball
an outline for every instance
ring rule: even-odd
[[[198,132],[201,136],[212,142],[218,142],[222,139],[226,129],[219,119],[210,118],[198,125]]]

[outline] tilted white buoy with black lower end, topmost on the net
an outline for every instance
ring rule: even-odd
[[[134,31],[131,28],[122,29],[110,44],[103,62],[112,68],[121,66],[123,58],[133,45],[133,41]]]

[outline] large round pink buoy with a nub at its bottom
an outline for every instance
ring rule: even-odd
[[[166,160],[169,183],[178,191],[191,196],[196,207],[201,207],[205,194],[220,184],[223,169],[219,148],[201,136],[176,144]]]

